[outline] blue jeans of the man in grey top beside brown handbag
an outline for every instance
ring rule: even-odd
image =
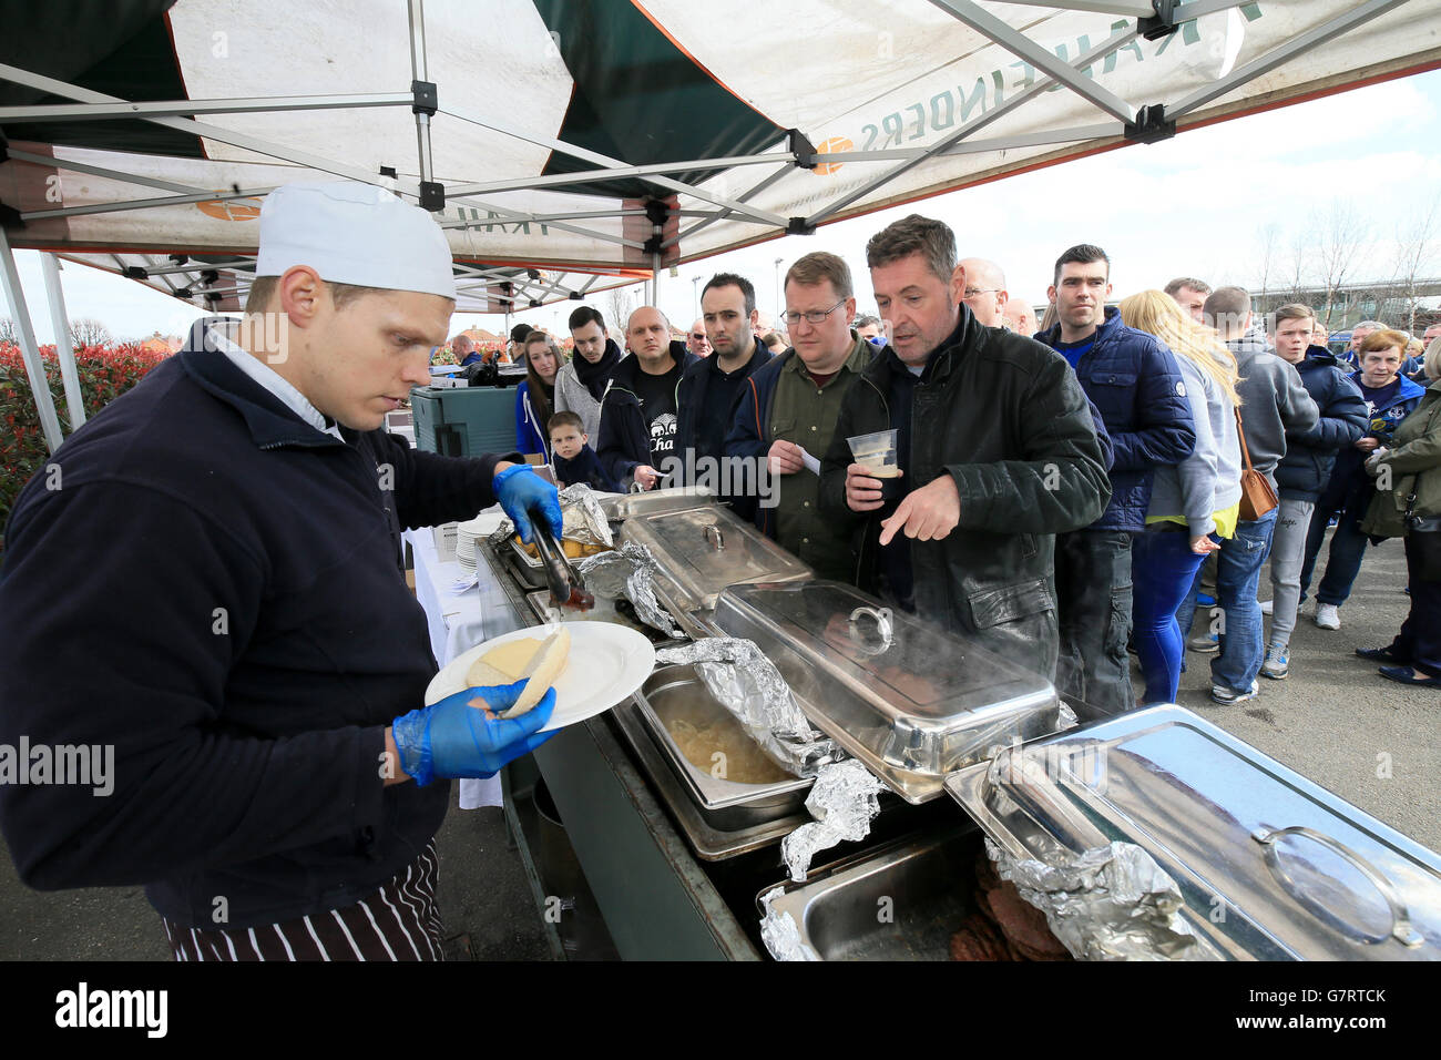
[[[1216,604],[1222,619],[1216,632],[1221,633],[1221,655],[1210,663],[1210,682],[1232,692],[1251,691],[1251,682],[1261,672],[1265,658],[1257,587],[1261,584],[1261,567],[1271,552],[1277,511],[1272,508],[1252,522],[1238,522],[1235,536],[1221,542],[1216,562]],[[1183,637],[1190,635],[1199,590],[1197,575],[1176,616]]]

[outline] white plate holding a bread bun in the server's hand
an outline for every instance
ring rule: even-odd
[[[555,711],[542,733],[604,714],[634,694],[656,668],[656,646],[638,630],[605,622],[568,622],[566,626],[571,627],[571,658],[555,682]],[[431,678],[425,704],[468,688],[465,671],[496,645],[539,640],[548,630],[549,626],[517,629],[455,656]]]

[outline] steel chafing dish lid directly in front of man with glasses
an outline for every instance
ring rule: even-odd
[[[726,586],[814,577],[810,567],[738,519],[729,509],[699,503],[630,515],[621,529],[650,547],[661,574],[679,588],[683,610],[715,607]],[[667,594],[669,596],[669,594]]]

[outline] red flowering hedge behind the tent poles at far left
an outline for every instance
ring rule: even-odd
[[[40,346],[40,358],[45,361],[45,376],[55,401],[55,414],[61,418],[61,430],[69,437],[65,384],[61,379],[55,346]],[[95,415],[128,391],[164,358],[164,353],[143,349],[134,342],[85,346],[75,350],[75,369],[81,379],[85,417]],[[10,519],[10,508],[20,487],[45,466],[48,457],[40,414],[36,411],[30,382],[24,374],[24,356],[19,346],[0,343],[0,528]]]

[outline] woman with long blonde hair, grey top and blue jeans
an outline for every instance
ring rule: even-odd
[[[1123,299],[1121,320],[1154,335],[1176,355],[1196,421],[1196,450],[1179,464],[1156,469],[1146,532],[1131,545],[1143,702],[1176,702],[1186,650],[1176,611],[1195,609],[1196,571],[1221,548],[1221,538],[1235,532],[1239,513],[1236,361],[1213,327],[1196,323],[1164,291]]]

